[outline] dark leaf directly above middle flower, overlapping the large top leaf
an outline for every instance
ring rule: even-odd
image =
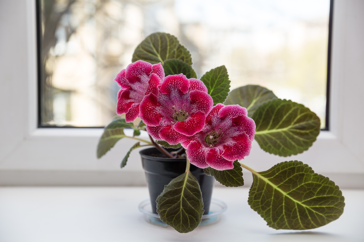
[[[197,75],[193,68],[187,64],[186,62],[183,62],[181,60],[177,59],[170,59],[166,60],[163,64],[163,69],[165,76],[167,75],[177,75],[177,74],[183,74],[188,79],[190,78],[197,78]]]

